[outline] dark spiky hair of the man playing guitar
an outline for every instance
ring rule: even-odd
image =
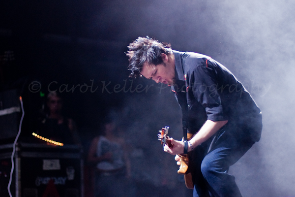
[[[129,58],[128,69],[131,70],[129,77],[138,78],[145,62],[148,65],[159,65],[163,63],[162,53],[171,53],[171,45],[161,43],[158,40],[147,37],[138,37],[128,45],[126,52]]]

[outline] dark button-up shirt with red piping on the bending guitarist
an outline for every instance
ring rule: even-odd
[[[256,131],[258,136],[255,139],[259,140],[261,128],[257,128],[257,124],[261,125],[261,111],[233,73],[208,56],[192,52],[173,53],[178,86],[172,90],[176,94],[186,92],[189,116],[195,119],[197,128],[206,120],[228,120],[229,125],[260,130]]]

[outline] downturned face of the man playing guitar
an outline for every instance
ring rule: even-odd
[[[165,62],[157,66],[148,65],[148,63],[145,62],[140,73],[147,79],[154,80],[156,83],[174,84],[175,69]]]

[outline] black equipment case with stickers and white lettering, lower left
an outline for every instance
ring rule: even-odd
[[[13,144],[0,145],[0,197],[9,197],[12,150]],[[10,191],[13,197],[83,197],[81,148],[18,143]]]

